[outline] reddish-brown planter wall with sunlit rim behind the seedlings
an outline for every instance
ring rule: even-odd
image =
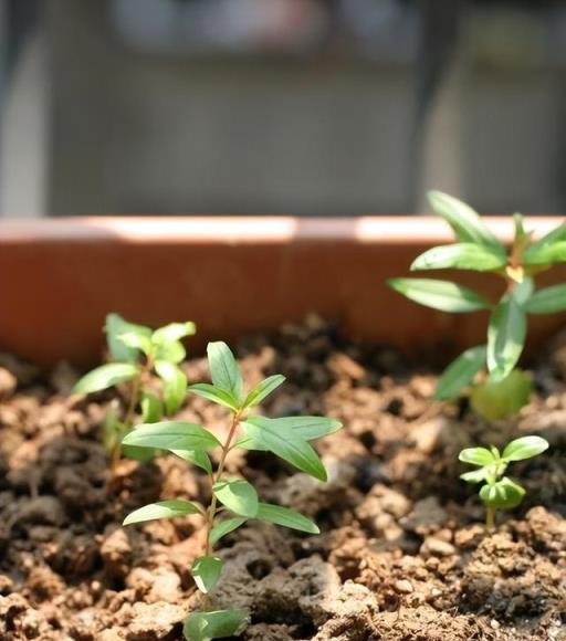
[[[537,234],[559,219],[527,220]],[[510,219],[490,219],[510,239]],[[107,312],[158,325],[192,319],[193,349],[316,311],[349,335],[413,349],[439,338],[475,345],[485,314],[448,315],[390,291],[418,252],[451,242],[416,218],[74,218],[0,222],[0,348],[42,366],[99,359]],[[427,274],[429,275],[429,274]],[[564,281],[566,267],[544,275]],[[496,294],[496,279],[460,272]],[[530,346],[563,317],[532,317]]]

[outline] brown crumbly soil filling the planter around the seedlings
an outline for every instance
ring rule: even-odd
[[[252,522],[222,539],[214,602],[249,608],[240,639],[566,640],[566,335],[533,364],[531,404],[495,424],[465,402],[431,401],[447,346],[416,365],[312,316],[237,351],[250,383],[287,377],[266,414],[345,424],[316,445],[327,484],[266,453],[229,459],[264,501],[312,516],[322,530]],[[207,380],[205,359],[185,367]],[[0,639],[180,640],[199,599],[189,574],[199,517],[120,522],[159,498],[207,501],[207,479],[169,455],[125,460],[109,481],[99,437],[107,406],[120,400],[70,398],[77,376],[62,364],[45,378],[0,356]],[[226,429],[224,410],[198,397],[178,418]],[[551,450],[511,470],[526,500],[489,534],[473,488],[459,481],[457,453],[526,433]]]

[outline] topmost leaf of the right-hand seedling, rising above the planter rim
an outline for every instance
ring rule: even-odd
[[[428,197],[432,209],[450,224],[460,242],[504,252],[502,244],[469,204],[442,191],[429,191]]]

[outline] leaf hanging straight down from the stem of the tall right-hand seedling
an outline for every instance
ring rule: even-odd
[[[488,369],[494,381],[506,378],[523,351],[526,316],[513,296],[505,296],[492,312],[488,328]]]

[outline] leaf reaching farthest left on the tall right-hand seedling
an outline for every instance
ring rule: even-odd
[[[481,294],[451,281],[389,279],[387,282],[410,301],[441,312],[462,314],[491,307],[491,303]]]

